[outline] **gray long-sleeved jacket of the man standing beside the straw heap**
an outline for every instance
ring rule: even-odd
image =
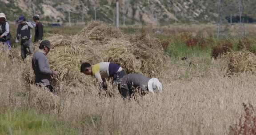
[[[35,52],[32,58],[32,68],[36,75],[36,83],[40,83],[44,86],[50,85],[53,71],[49,67],[46,53],[43,50],[38,50]]]

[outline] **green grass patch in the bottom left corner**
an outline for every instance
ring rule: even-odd
[[[0,114],[0,135],[77,135],[77,131],[50,115],[8,110]]]

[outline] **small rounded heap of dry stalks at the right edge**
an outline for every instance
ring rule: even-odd
[[[239,52],[229,52],[228,73],[240,73],[250,71],[256,73],[256,55],[252,52],[242,50]]]

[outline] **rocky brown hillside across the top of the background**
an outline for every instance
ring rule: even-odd
[[[0,0],[0,10],[15,20],[20,14],[32,16],[40,14],[46,21],[68,22],[70,12],[72,22],[96,19],[113,23],[116,0]],[[244,0],[244,13],[251,17],[256,2]],[[238,11],[236,0],[225,0],[224,11]],[[217,2],[213,0],[120,0],[120,23],[123,24],[170,24],[173,22],[214,22],[217,17]],[[225,15],[226,16],[226,15]]]

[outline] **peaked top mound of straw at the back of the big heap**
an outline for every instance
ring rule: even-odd
[[[92,21],[77,34],[80,38],[89,38],[96,43],[107,43],[112,38],[120,38],[123,34],[119,29],[103,24],[102,22]]]

